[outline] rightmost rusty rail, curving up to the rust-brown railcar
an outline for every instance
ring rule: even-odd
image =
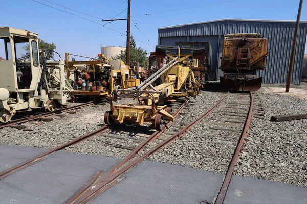
[[[233,157],[232,157],[230,165],[228,167],[228,170],[227,170],[226,176],[224,178],[220,192],[218,192],[216,201],[214,202],[215,204],[222,204],[223,201],[224,201],[224,198],[226,196],[226,192],[227,192],[230,180],[231,180],[231,176],[232,176],[236,161],[237,161],[239,154],[240,154],[240,151],[243,147],[244,139],[247,136],[247,131],[248,131],[249,126],[250,126],[252,113],[253,113],[253,107],[254,107],[253,95],[252,95],[251,92],[249,94],[250,94],[250,107],[249,107],[249,111],[248,111],[248,116],[247,116],[245,124],[244,124],[244,129],[243,129],[242,134],[239,138],[239,142],[237,144],[237,147],[234,151]]]

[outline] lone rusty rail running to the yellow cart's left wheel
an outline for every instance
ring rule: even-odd
[[[52,154],[55,151],[58,151],[58,150],[61,150],[61,149],[65,148],[65,147],[68,147],[70,145],[78,144],[80,142],[88,140],[88,139],[90,139],[90,138],[92,138],[92,137],[94,137],[96,135],[104,133],[107,130],[108,130],[108,126],[107,125],[103,125],[99,129],[97,129],[97,130],[95,130],[95,131],[93,131],[91,133],[87,133],[87,134],[85,134],[85,135],[83,135],[81,137],[78,137],[78,138],[76,138],[74,140],[71,140],[71,141],[69,141],[67,143],[64,143],[64,144],[62,144],[60,146],[57,146],[57,147],[52,148],[52,149],[50,149],[48,151],[45,151],[42,154],[39,154],[39,155],[37,155],[37,156],[35,156],[35,157],[33,157],[33,158],[23,162],[23,163],[20,163],[20,164],[18,164],[16,166],[13,166],[13,167],[11,167],[11,168],[3,171],[3,172],[0,172],[0,179],[3,179],[4,177],[7,177],[8,175],[10,175],[10,174],[12,174],[12,173],[14,173],[16,171],[19,171],[19,170],[24,169],[24,168],[26,168],[26,167],[28,167],[28,166],[30,166],[32,164],[35,164],[38,160],[42,161],[44,159],[44,157],[46,157],[47,155]]]

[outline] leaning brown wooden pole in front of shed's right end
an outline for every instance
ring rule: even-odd
[[[296,48],[297,35],[298,35],[298,29],[299,29],[299,20],[300,20],[300,14],[302,11],[302,6],[303,6],[303,0],[300,0],[298,12],[297,12],[297,18],[296,18],[296,27],[295,27],[294,37],[293,37],[293,42],[292,42],[292,50],[291,50],[291,56],[290,56],[287,85],[286,85],[286,93],[289,92],[290,84],[291,84],[291,75],[292,75],[292,69],[293,69],[293,64],[294,64],[294,55],[295,55],[295,48]]]

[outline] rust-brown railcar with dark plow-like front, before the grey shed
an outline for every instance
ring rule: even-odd
[[[256,71],[265,70],[268,40],[259,33],[227,34],[224,36],[220,77],[222,89],[256,91],[262,77]]]

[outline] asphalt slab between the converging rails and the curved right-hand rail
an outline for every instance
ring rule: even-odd
[[[195,203],[211,202],[223,176],[188,167],[143,161],[93,203]]]

